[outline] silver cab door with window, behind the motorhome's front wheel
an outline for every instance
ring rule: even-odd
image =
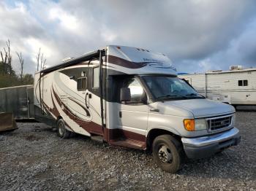
[[[148,127],[148,104],[144,104],[145,101],[143,101],[146,97],[143,86],[140,84],[139,79],[129,78],[124,81],[123,87],[129,87],[131,101],[120,105],[118,128],[132,133],[146,135]]]

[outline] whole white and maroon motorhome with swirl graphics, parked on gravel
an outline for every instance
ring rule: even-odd
[[[35,118],[71,133],[152,150],[164,171],[184,157],[237,145],[233,106],[208,101],[179,79],[166,55],[110,45],[37,72]]]

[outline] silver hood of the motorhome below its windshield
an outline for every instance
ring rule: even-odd
[[[208,99],[187,99],[177,101],[165,101],[160,103],[158,102],[157,107],[159,108],[159,110],[163,109],[164,114],[172,115],[176,114],[176,109],[178,109],[178,115],[180,115],[182,109],[184,110],[184,112],[182,112],[183,114],[192,113],[195,118],[211,117],[236,112],[233,106],[223,104],[218,101],[211,101]]]

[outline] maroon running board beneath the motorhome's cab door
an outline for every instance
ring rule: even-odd
[[[134,139],[113,140],[113,141],[110,141],[110,144],[122,146],[122,147],[129,147],[133,149],[146,150],[146,142],[137,141]]]

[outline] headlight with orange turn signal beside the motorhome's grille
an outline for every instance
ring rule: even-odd
[[[184,128],[189,131],[204,130],[207,128],[205,119],[186,119],[184,120]]]

